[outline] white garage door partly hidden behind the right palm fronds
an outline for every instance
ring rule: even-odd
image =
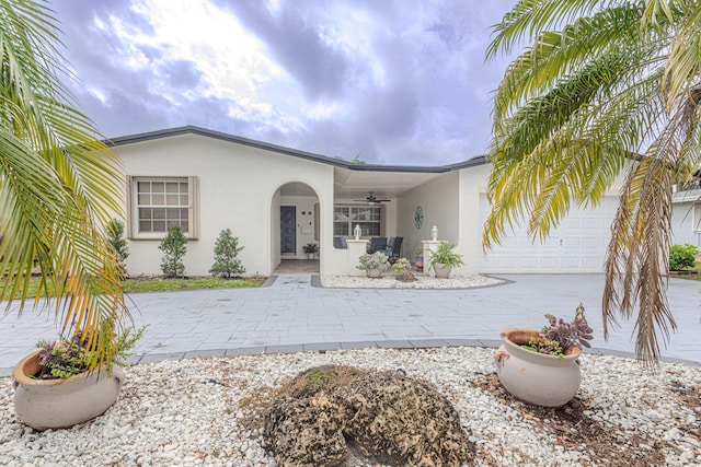
[[[522,226],[508,231],[502,245],[486,257],[480,255],[480,272],[604,272],[617,206],[617,197],[607,197],[595,210],[573,209],[543,242],[532,243]],[[480,225],[484,225],[489,212],[489,201],[482,195]]]

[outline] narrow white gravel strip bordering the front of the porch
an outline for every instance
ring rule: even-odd
[[[433,276],[415,275],[416,281],[402,282],[393,272],[386,271],[381,278],[365,276],[321,276],[321,287],[335,289],[471,289],[475,287],[496,285],[501,279],[479,275],[451,275],[448,279],[436,279]]]

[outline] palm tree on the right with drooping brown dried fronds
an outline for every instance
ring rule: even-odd
[[[666,300],[671,187],[698,170],[701,3],[520,0],[487,57],[532,44],[494,98],[485,249],[528,221],[543,238],[572,206],[623,180],[605,265],[604,329],[636,314],[635,351],[659,359],[676,328]]]

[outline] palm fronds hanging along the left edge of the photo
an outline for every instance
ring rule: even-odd
[[[44,297],[64,335],[90,330],[91,366],[110,363],[128,316],[102,226],[122,212],[122,166],[68,102],[69,75],[45,3],[0,0],[0,300]],[[39,291],[27,296],[32,269]],[[48,300],[56,296],[55,301]]]

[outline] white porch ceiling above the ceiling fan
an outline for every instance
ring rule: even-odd
[[[439,173],[349,171],[334,168],[334,196],[337,198],[365,198],[375,191],[378,198],[393,198],[439,176]]]

